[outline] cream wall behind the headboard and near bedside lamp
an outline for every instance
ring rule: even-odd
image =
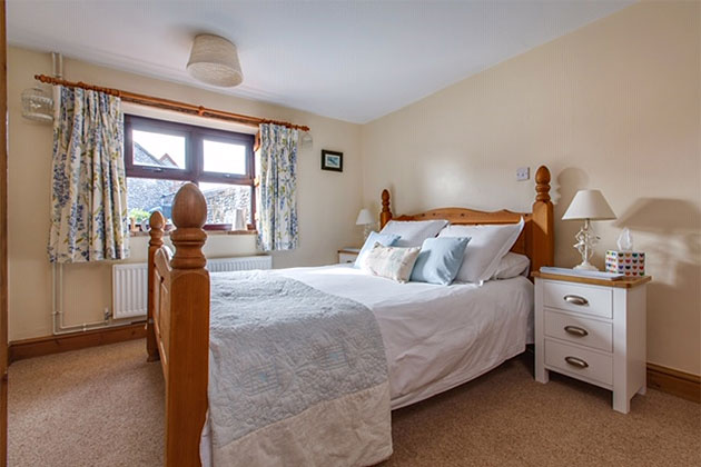
[[[553,173],[555,262],[573,266],[574,192],[601,189],[595,264],[622,227],[648,252],[648,358],[701,374],[701,143],[698,2],[638,3],[363,127],[364,200],[529,210]]]

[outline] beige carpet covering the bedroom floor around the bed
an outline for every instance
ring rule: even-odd
[[[159,466],[162,377],[144,341],[10,367],[10,466]],[[514,359],[393,414],[394,466],[701,466],[701,406],[659,391],[629,415],[611,393]]]

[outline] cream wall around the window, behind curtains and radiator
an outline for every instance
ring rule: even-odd
[[[10,47],[9,107],[9,261],[10,340],[51,334],[51,269],[46,254],[51,187],[51,126],[21,117],[20,95],[37,85],[33,76],[50,73],[51,59]],[[336,260],[336,250],[361,238],[355,217],[361,208],[361,127],[307,112],[208,92],[103,67],[65,60],[65,78],[125,89],[205,107],[309,126],[313,147],[298,153],[299,248],[274,255],[274,267],[313,266]],[[343,173],[322,171],[320,150],[344,152]],[[323,235],[317,235],[323,231]],[[132,238],[130,260],[142,261],[147,239]],[[210,236],[211,257],[255,254],[250,236]],[[67,325],[99,320],[110,307],[110,267],[66,268]]]

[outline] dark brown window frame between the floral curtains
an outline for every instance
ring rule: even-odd
[[[134,163],[132,130],[158,132],[185,137],[185,169],[170,167],[141,166]],[[126,178],[145,178],[160,180],[191,181],[199,186],[204,183],[238,185],[250,188],[250,219],[256,218],[256,166],[255,166],[255,135],[219,130],[196,125],[158,120],[148,117],[125,115],[125,175]],[[230,142],[246,147],[246,173],[207,172],[205,167],[204,141],[213,140]],[[205,230],[229,230],[229,223],[207,223]],[[255,223],[247,223],[248,230],[255,230]]]

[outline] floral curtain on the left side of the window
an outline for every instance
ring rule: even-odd
[[[120,99],[59,87],[55,93],[51,262],[129,255]]]

